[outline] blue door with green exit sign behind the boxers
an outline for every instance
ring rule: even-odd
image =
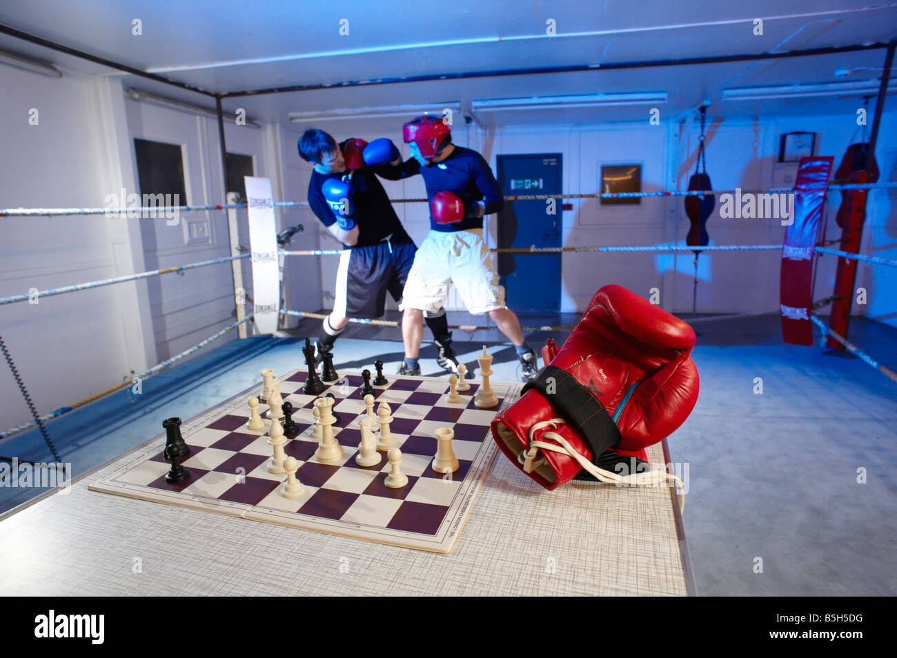
[[[561,153],[500,155],[498,181],[503,195],[560,195]],[[561,247],[562,200],[548,213],[544,199],[505,203],[498,215],[499,247]],[[501,284],[508,307],[529,313],[561,309],[561,255],[499,254]]]

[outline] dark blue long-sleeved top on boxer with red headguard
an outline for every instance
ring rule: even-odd
[[[479,153],[463,146],[456,146],[448,158],[426,167],[422,167],[420,162],[412,158],[395,167],[386,165],[376,170],[379,176],[388,180],[399,180],[420,174],[427,186],[428,202],[440,192],[448,191],[460,197],[467,211],[477,201],[485,203],[485,214],[499,212],[504,206],[501,188],[492,176],[489,163]],[[431,214],[430,228],[449,233],[464,229],[482,229],[483,218],[469,217],[453,224],[438,224],[433,221]]]

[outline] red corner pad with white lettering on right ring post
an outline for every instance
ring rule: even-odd
[[[813,344],[813,257],[833,163],[831,157],[801,158],[797,166],[794,221],[785,231],[779,285],[782,338],[794,345]]]

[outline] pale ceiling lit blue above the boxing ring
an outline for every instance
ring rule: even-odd
[[[754,34],[757,19],[762,19],[762,35]],[[133,33],[135,20],[140,22],[140,35]],[[550,22],[555,30],[552,36],[546,34]],[[897,3],[269,0],[254,5],[232,0],[29,0],[5,2],[0,6],[0,23],[207,91],[330,85],[223,101],[226,110],[246,108],[249,117],[262,123],[288,125],[289,114],[296,111],[457,103],[469,115],[476,100],[666,92],[666,103],[659,105],[474,113],[484,126],[570,125],[644,119],[653,106],[660,109],[662,120],[669,119],[683,116],[705,99],[710,100],[711,117],[852,113],[861,100],[826,96],[724,101],[722,91],[797,83],[875,84],[884,49],[707,65],[604,71],[600,66],[888,42],[897,38]],[[127,87],[214,107],[213,99],[200,93],[122,74],[7,34],[0,34],[0,48],[47,61],[68,75],[114,75]],[[570,65],[595,68],[346,85],[381,78]],[[836,78],[838,69],[849,73]],[[892,95],[889,106],[895,101],[897,96]],[[396,121],[379,119],[371,127]],[[322,123],[327,121],[315,121]]]

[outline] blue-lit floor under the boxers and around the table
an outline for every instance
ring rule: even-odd
[[[524,325],[576,319],[521,317]],[[449,322],[483,317],[449,314]],[[897,594],[897,384],[849,354],[785,345],[778,316],[694,326],[701,394],[669,446],[688,464],[684,523],[698,593]],[[300,367],[298,336],[317,327],[303,321],[289,332],[297,338],[224,343],[147,380],[141,396],[124,392],[66,414],[49,424],[51,436],[84,472],[160,434],[162,419],[190,418],[256,383],[261,368]],[[428,333],[422,372],[439,375]],[[547,336],[561,343],[564,333],[527,338],[538,347]],[[468,368],[485,343],[494,378],[517,379],[514,351],[497,331],[454,338]],[[897,330],[854,319],[850,338],[897,369]],[[347,329],[334,352],[337,370],[380,358],[388,374],[403,355],[396,329],[363,325]],[[48,459],[36,432],[0,443],[0,455]],[[0,489],[0,511],[34,493]]]

